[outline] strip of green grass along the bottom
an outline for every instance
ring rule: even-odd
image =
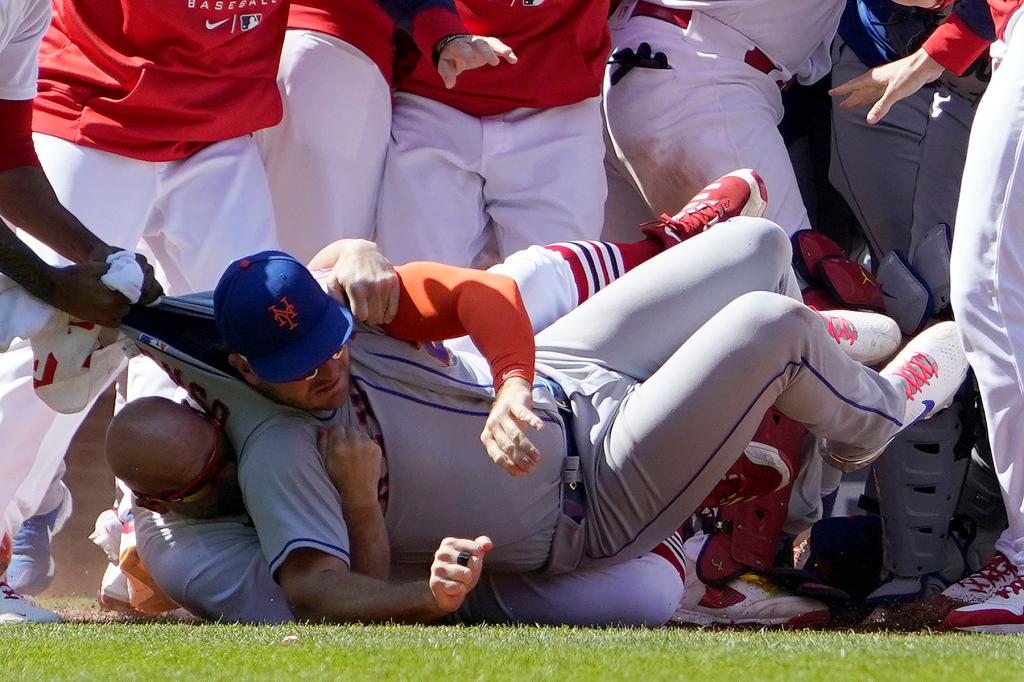
[[[3,680],[1024,679],[1024,640],[1012,636],[186,623],[2,633]]]

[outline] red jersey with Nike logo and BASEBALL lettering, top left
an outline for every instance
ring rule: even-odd
[[[287,0],[54,0],[34,128],[175,161],[281,120]]]

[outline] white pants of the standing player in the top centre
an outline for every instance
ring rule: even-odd
[[[493,226],[504,257],[597,239],[607,193],[598,99],[469,116],[395,95],[377,242],[392,262],[469,266]]]

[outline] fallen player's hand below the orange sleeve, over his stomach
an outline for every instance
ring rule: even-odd
[[[544,422],[534,414],[529,382],[519,377],[507,380],[495,396],[487,422],[480,434],[487,456],[513,476],[532,473],[541,459],[526,437],[526,427],[540,431]]]

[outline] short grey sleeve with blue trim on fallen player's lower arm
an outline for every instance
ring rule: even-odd
[[[257,427],[239,457],[239,484],[271,576],[303,548],[350,565],[341,498],[316,449],[315,425],[283,416]]]

